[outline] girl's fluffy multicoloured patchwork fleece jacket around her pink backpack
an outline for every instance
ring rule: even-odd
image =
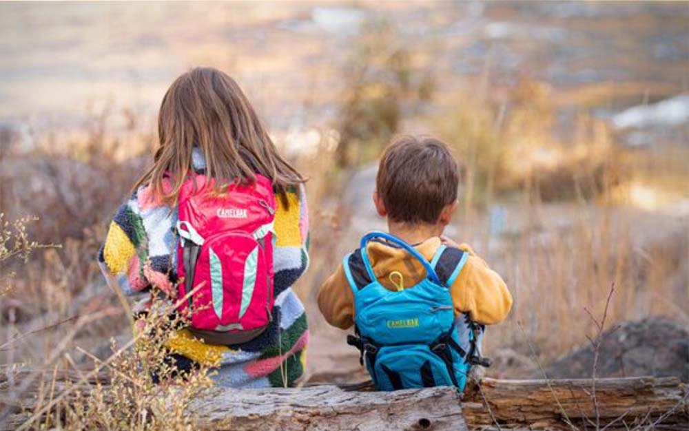
[[[194,149],[193,156],[195,171],[203,173],[203,154]],[[138,304],[143,307],[151,284],[165,289],[176,281],[178,238],[173,227],[177,211],[156,202],[151,194],[144,185],[119,208],[99,253],[105,276],[116,280],[125,295],[142,296]],[[167,343],[178,368],[199,363],[212,366],[216,382],[232,388],[292,386],[303,374],[309,330],[304,306],[291,287],[309,264],[309,219],[303,187],[287,193],[287,200],[286,207],[276,196],[275,306],[269,328],[237,346],[203,344],[188,330],[178,330]]]

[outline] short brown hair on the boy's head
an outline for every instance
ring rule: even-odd
[[[380,158],[376,189],[394,222],[434,224],[457,200],[457,162],[430,136],[398,136]]]

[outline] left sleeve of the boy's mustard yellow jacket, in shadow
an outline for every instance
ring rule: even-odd
[[[325,320],[340,329],[351,328],[354,324],[354,295],[347,282],[342,264],[318,291],[318,308]]]

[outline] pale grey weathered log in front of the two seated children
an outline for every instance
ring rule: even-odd
[[[337,386],[298,390],[213,388],[189,413],[197,430],[465,431],[451,388],[350,392]]]

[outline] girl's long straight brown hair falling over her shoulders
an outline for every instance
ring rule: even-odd
[[[192,166],[194,146],[203,152],[205,175],[222,193],[229,183],[251,184],[255,174],[273,181],[282,202],[304,178],[283,159],[239,85],[224,72],[196,67],[179,76],[163,97],[158,114],[160,145],[154,164],[134,185],[150,185],[163,202],[177,202]],[[163,179],[172,188],[163,189]]]

